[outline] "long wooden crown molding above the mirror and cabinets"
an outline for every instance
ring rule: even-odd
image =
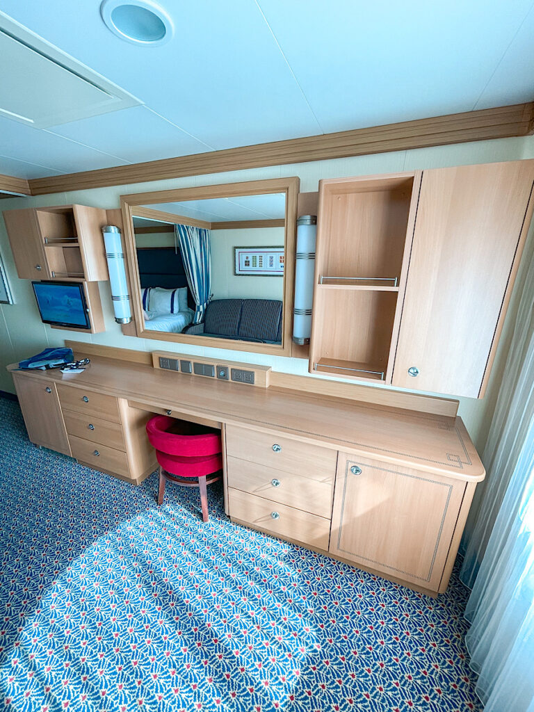
[[[32,195],[323,161],[534,132],[534,103],[403,121],[333,134],[197,153],[146,163],[30,180]]]

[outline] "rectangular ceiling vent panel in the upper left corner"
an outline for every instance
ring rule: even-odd
[[[141,104],[0,12],[0,116],[43,129]]]

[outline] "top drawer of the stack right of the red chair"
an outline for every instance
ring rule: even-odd
[[[335,450],[234,425],[226,426],[226,454],[320,482],[333,481],[337,463]]]

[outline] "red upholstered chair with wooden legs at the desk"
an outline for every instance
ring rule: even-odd
[[[167,481],[198,487],[202,519],[207,522],[207,485],[221,478],[221,433],[203,425],[157,415],[147,422],[147,435],[159,462],[158,505],[163,503]],[[207,478],[214,473],[216,476]],[[189,482],[189,478],[194,481]]]

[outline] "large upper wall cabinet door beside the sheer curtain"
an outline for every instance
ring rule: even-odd
[[[482,397],[528,231],[533,181],[532,160],[424,171],[395,386]]]

